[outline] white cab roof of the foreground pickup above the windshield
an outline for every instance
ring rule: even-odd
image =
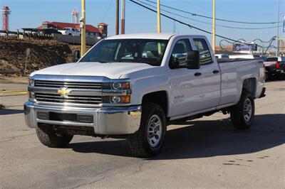
[[[130,39],[130,38],[145,38],[145,39],[165,39],[168,40],[172,36],[180,36],[175,33],[132,33],[117,36],[110,36],[108,39]],[[181,35],[182,36],[182,35]]]

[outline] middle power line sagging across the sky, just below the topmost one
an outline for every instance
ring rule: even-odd
[[[153,6],[151,4],[147,4],[145,3],[144,1],[140,1],[140,0],[137,0],[139,1],[140,3],[142,4],[146,4],[147,6],[151,6],[152,8],[156,8],[156,6]],[[199,23],[205,23],[205,24],[208,24],[208,25],[212,25],[212,23],[209,23],[209,22],[205,22],[205,21],[199,21],[197,19],[194,19],[194,18],[189,18],[187,16],[182,16],[181,14],[178,14],[178,13],[172,13],[170,11],[167,11],[165,9],[161,9],[162,11],[165,11],[167,13],[171,13],[175,16],[180,16],[181,18],[186,18],[190,21],[197,21]],[[242,27],[234,27],[234,26],[224,26],[224,25],[221,25],[221,24],[216,24],[216,26],[219,26],[219,27],[222,27],[222,28],[233,28],[233,29],[242,29],[242,30],[263,30],[263,29],[271,29],[271,28],[277,28],[278,26],[270,26],[270,27],[264,27],[264,28],[242,28]]]

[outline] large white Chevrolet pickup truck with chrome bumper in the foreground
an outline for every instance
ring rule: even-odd
[[[204,36],[111,36],[77,63],[30,75],[26,124],[49,147],[75,134],[123,138],[140,157],[160,152],[172,123],[221,111],[247,129],[265,96],[263,62],[218,61]]]

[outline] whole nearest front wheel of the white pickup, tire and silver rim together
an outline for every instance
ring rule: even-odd
[[[128,137],[130,150],[139,157],[157,155],[165,141],[165,112],[158,104],[142,104],[140,129]]]

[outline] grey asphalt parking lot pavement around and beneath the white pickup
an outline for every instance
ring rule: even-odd
[[[0,187],[285,188],[285,81],[266,87],[251,129],[234,129],[222,113],[172,125],[151,159],[118,139],[75,136],[47,148],[24,123],[26,96],[0,97]]]

